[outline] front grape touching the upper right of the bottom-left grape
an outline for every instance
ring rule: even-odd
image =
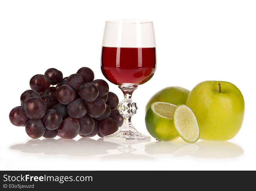
[[[62,116],[60,112],[54,109],[48,109],[45,116],[42,118],[45,128],[49,130],[57,129],[62,122]]]

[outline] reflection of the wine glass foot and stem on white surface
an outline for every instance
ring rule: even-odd
[[[134,154],[132,152],[137,151],[137,149],[133,148],[135,144],[141,144],[145,142],[150,142],[150,140],[121,140],[121,141],[115,141],[111,139],[104,139],[104,142],[106,143],[115,143],[122,145],[121,148],[117,149],[120,154],[109,154],[106,156],[102,156],[100,159],[102,160],[153,160],[154,158],[151,156],[146,155],[140,155],[140,154]]]

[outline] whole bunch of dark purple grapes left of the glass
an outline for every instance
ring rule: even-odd
[[[31,138],[103,137],[122,126],[117,95],[109,92],[106,81],[94,80],[88,67],[65,78],[50,68],[33,76],[29,84],[32,90],[21,94],[21,106],[11,110],[9,119],[15,126],[26,126]]]

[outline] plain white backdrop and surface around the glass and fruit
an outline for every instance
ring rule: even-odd
[[[255,10],[255,1],[246,0],[0,1],[0,169],[256,170]],[[134,126],[149,135],[144,107],[158,90],[191,90],[201,81],[223,80],[234,83],[245,99],[243,126],[235,138],[196,144],[152,138],[152,143],[130,145],[130,153],[120,151],[117,144],[76,142],[79,136],[56,143],[27,142],[24,127],[13,126],[8,115],[29,89],[30,78],[51,67],[69,76],[85,66],[93,69],[95,78],[104,79],[104,23],[123,18],[152,20],[157,43],[156,73],[133,95],[139,107]],[[118,87],[109,85],[121,100]]]

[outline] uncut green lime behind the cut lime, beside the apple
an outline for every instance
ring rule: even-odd
[[[178,86],[171,86],[164,88],[155,93],[150,100],[147,102],[145,111],[154,102],[162,101],[167,103],[175,104],[176,106],[185,104],[189,95],[189,90]]]

